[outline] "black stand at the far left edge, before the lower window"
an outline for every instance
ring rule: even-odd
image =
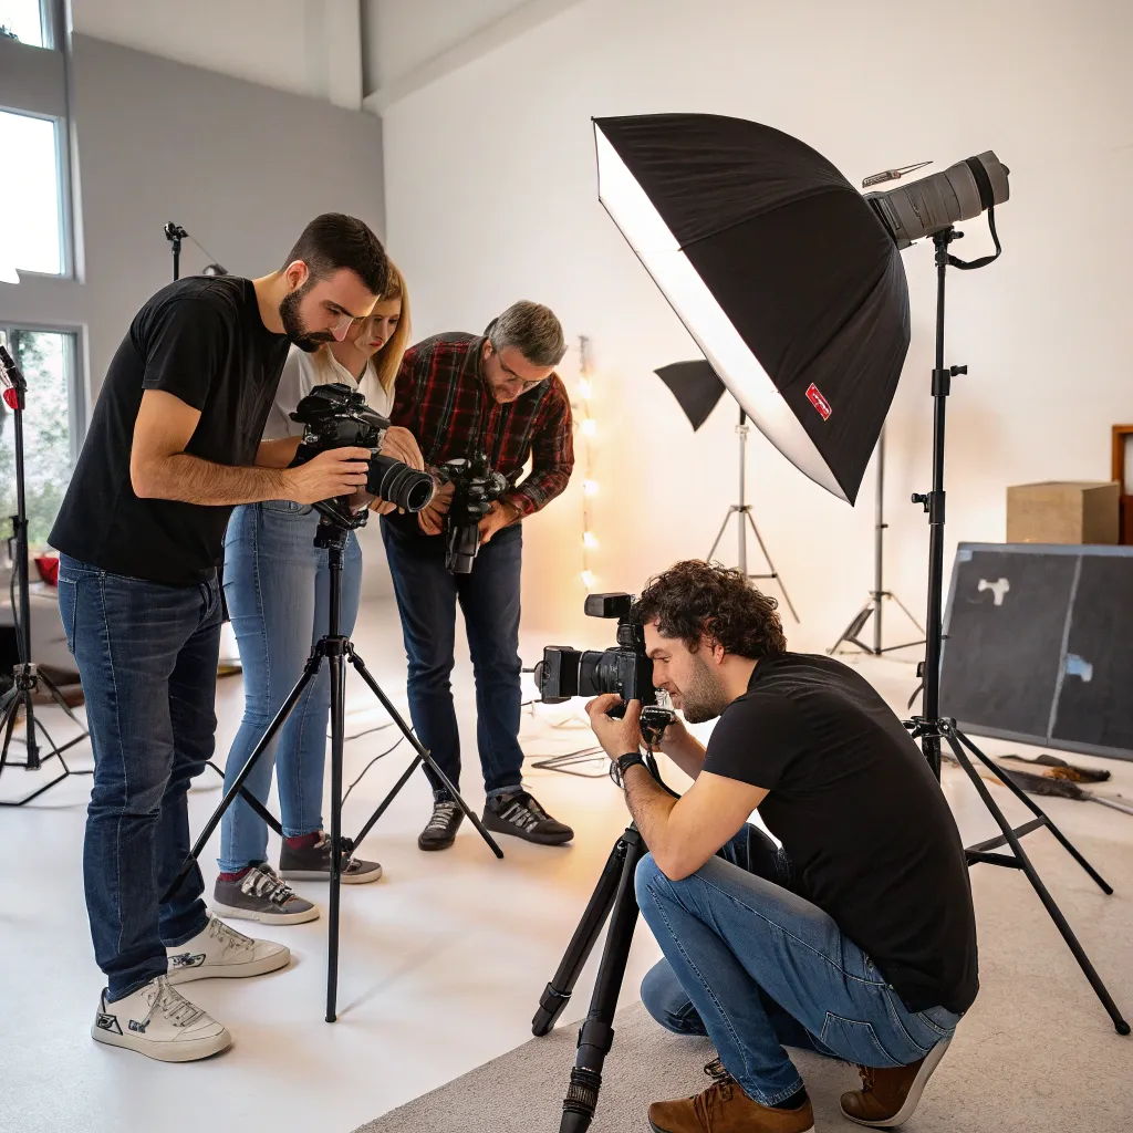
[[[18,614],[16,603],[12,603],[11,608],[19,661],[12,673],[15,678],[12,687],[0,700],[0,730],[3,731],[3,741],[0,746],[0,774],[3,773],[5,767],[24,767],[29,772],[36,772],[49,759],[58,759],[59,766],[62,768],[56,778],[44,783],[23,799],[0,801],[0,807],[23,807],[33,799],[37,799],[44,791],[50,791],[57,783],[62,783],[69,775],[90,775],[92,773],[73,772],[67,766],[62,753],[68,748],[75,747],[76,743],[82,743],[87,736],[87,731],[83,726],[83,722],[71,712],[70,705],[63,699],[59,689],[45,674],[40,672],[39,666],[32,661],[32,600],[27,588],[27,497],[24,483],[24,409],[27,404],[27,382],[20,368],[12,361],[11,355],[3,347],[0,347],[0,377],[8,385],[8,389],[5,390],[5,403],[12,411],[16,437],[16,514],[11,517],[14,547],[11,560],[16,586],[19,589]],[[43,726],[43,722],[36,717],[34,698],[41,685],[82,730],[75,739],[61,744],[56,743]],[[8,750],[11,747],[12,731],[16,727],[20,708],[24,709],[26,721],[27,758],[23,763],[16,763],[8,759]],[[42,732],[48,741],[46,755],[41,755],[40,744],[35,736],[36,730]]]

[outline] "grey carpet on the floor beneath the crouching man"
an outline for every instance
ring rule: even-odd
[[[1032,858],[1111,995],[1133,1020],[1133,842],[1077,840],[1082,853],[1117,888],[1113,897],[1104,897],[1045,832],[1031,835],[1029,842]],[[1133,1038],[1114,1032],[1022,874],[978,867],[972,884],[982,990],[905,1128],[1130,1133]],[[707,1040],[667,1034],[640,1004],[620,1012],[615,1026],[591,1126],[595,1133],[647,1130],[650,1101],[692,1093],[707,1084],[701,1073],[713,1055]],[[576,1030],[564,1026],[533,1039],[357,1133],[557,1130]],[[838,1094],[857,1085],[857,1072],[813,1055],[796,1053],[795,1060],[815,1105],[818,1130],[858,1128],[837,1108]]]

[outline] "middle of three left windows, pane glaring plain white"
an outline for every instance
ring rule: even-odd
[[[25,272],[62,275],[67,265],[59,123],[0,111],[0,154],[6,165],[0,177],[0,258]]]

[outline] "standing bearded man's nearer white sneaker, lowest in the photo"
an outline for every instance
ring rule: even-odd
[[[103,991],[91,1038],[159,1062],[195,1062],[232,1045],[228,1030],[171,988],[165,976],[114,1003],[108,1004]]]

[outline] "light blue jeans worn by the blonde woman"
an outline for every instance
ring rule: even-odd
[[[231,787],[303,675],[312,646],[326,633],[330,578],[325,548],[314,545],[318,512],[287,500],[245,504],[232,512],[224,536],[224,598],[244,668],[244,719],[224,768]],[[349,634],[361,596],[361,548],[351,531],[342,553],[339,632]],[[272,766],[279,768],[280,821],[287,837],[323,828],[323,767],[331,674],[324,661],[245,789],[267,800]],[[267,825],[244,801],[221,823],[219,864],[235,874],[267,860]]]

